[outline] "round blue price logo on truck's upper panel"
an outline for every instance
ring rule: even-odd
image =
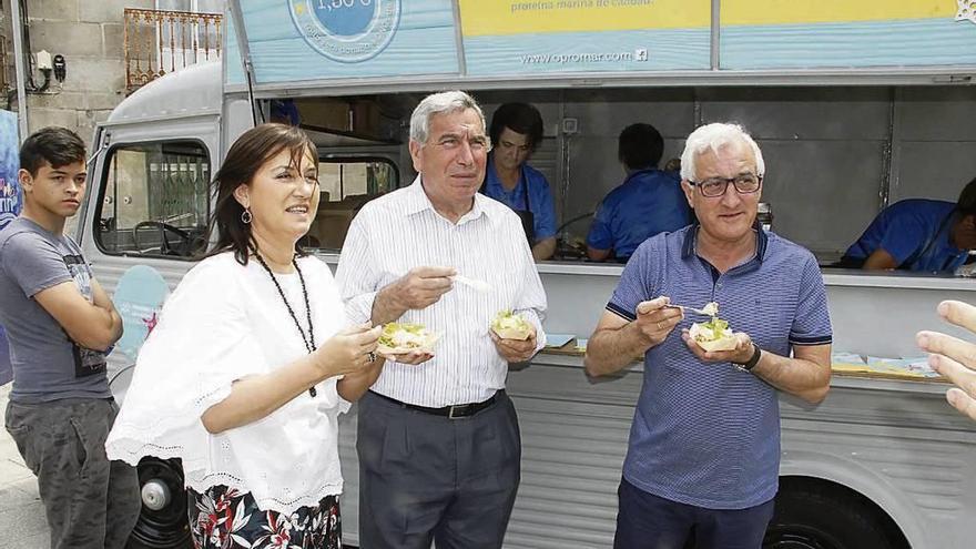
[[[289,0],[292,20],[316,51],[358,63],[389,45],[400,21],[401,0]]]

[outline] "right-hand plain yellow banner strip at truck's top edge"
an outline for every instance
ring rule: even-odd
[[[722,0],[722,24],[954,18],[956,0]]]

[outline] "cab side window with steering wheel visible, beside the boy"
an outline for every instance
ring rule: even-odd
[[[189,258],[206,247],[211,165],[202,143],[125,144],[108,154],[94,227],[102,252]]]

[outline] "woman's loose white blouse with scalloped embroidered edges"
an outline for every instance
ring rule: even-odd
[[[346,323],[328,266],[302,257],[315,343]],[[297,274],[275,275],[303,329],[305,301]],[[110,459],[136,465],[144,456],[179,457],[196,491],[226,485],[250,491],[263,510],[291,514],[338,495],[338,414],[349,404],[337,378],[252,424],[211,435],[201,416],[231,384],[302,357],[305,344],[268,273],[233,254],[202,261],[163,306],[136,360],[132,385],[105,443]]]

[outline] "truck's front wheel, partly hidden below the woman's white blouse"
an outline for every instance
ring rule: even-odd
[[[145,457],[139,461],[142,508],[129,538],[129,549],[189,549],[186,491],[179,459]]]

